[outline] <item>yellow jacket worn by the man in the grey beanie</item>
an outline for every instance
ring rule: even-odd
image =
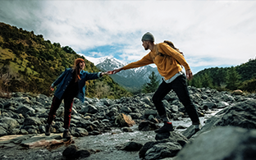
[[[158,53],[167,54],[169,57],[157,55],[156,48],[158,48]],[[140,59],[137,62],[131,62],[130,64],[123,66],[123,70],[130,68],[136,68],[139,66],[146,66],[149,64],[156,64],[158,66],[158,72],[164,77],[165,80],[169,80],[173,75],[176,75],[179,71],[182,71],[181,65],[185,67],[185,71],[190,69],[189,64],[185,61],[185,58],[178,53],[175,49],[171,48],[167,43],[158,43],[155,45],[153,50]]]

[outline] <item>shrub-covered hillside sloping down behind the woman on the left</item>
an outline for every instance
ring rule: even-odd
[[[16,26],[0,22],[0,89],[8,92],[53,94],[49,86],[57,76],[81,57],[60,43],[44,40]],[[82,57],[85,59],[85,57]],[[99,71],[92,62],[85,60],[85,71]],[[86,96],[97,98],[121,98],[131,94],[117,85],[110,76],[86,82]]]

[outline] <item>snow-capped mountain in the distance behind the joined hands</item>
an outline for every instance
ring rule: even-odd
[[[83,55],[84,56],[84,55]],[[85,57],[85,56],[84,56]],[[124,63],[117,60],[115,57],[85,57],[89,62],[93,62],[95,66],[101,71],[112,71],[114,69],[125,66]],[[126,71],[120,71],[116,75],[111,75],[112,79],[115,80],[119,85],[130,90],[138,90],[145,83],[149,82],[149,75],[152,71],[158,75],[158,79],[161,79],[157,68],[152,66],[141,66],[139,68],[133,68]]]

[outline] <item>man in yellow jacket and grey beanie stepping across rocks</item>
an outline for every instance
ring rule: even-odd
[[[191,101],[186,84],[186,78],[191,80],[193,75],[185,58],[174,46],[172,48],[167,43],[155,44],[153,34],[150,34],[149,32],[144,34],[141,40],[144,49],[150,50],[150,53],[137,62],[131,62],[126,66],[113,70],[112,73],[116,74],[122,70],[146,66],[152,63],[156,64],[158,72],[163,76],[163,79],[161,85],[159,85],[157,91],[153,94],[152,100],[164,125],[160,129],[155,130],[155,132],[174,130],[162,103],[162,98],[164,98],[171,89],[176,92],[181,103],[185,106],[186,112],[188,112],[192,124],[194,125],[194,131],[199,131],[199,116],[194,107],[194,103]],[[185,74],[182,72],[181,66],[185,67]]]

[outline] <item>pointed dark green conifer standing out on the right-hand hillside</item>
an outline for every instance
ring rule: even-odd
[[[226,74],[226,88],[227,89],[237,89],[240,85],[240,75],[237,71],[235,71],[235,67],[231,66],[231,68],[227,71]]]

